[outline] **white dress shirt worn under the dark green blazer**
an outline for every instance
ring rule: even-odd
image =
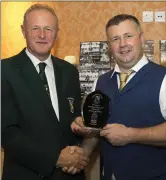
[[[52,106],[54,108],[54,111],[55,111],[58,121],[59,121],[58,97],[57,97],[55,73],[54,73],[54,67],[53,67],[52,60],[51,60],[51,54],[49,55],[49,57],[46,60],[40,61],[34,55],[32,55],[28,51],[28,49],[26,49],[25,52],[26,52],[27,56],[30,58],[30,60],[32,61],[32,63],[34,64],[38,73],[39,73],[39,63],[41,63],[41,62],[46,63],[45,74],[46,74],[47,82],[48,82],[48,86],[49,86],[51,102],[52,102]]]

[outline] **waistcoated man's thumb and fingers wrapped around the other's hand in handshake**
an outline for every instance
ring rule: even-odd
[[[89,159],[88,159],[88,157],[87,157],[87,152],[86,152],[86,150],[84,150],[83,148],[80,148],[80,147],[78,147],[78,146],[70,146],[69,153],[70,153],[71,155],[74,155],[74,153],[78,153],[78,154],[86,157],[87,160],[89,161]],[[84,166],[84,167],[85,167],[85,166]],[[62,171],[63,171],[63,172],[66,172],[66,173],[68,173],[68,174],[74,175],[74,174],[76,174],[76,173],[79,173],[81,170],[83,170],[84,167],[83,167],[83,166],[82,166],[81,168],[77,168],[77,167],[74,167],[74,166],[71,166],[71,167],[69,167],[69,168],[68,168],[68,167],[63,167],[63,168],[62,168]]]

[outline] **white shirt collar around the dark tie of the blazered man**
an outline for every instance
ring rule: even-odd
[[[25,52],[36,68],[38,66],[38,64],[41,63],[41,61],[39,59],[37,59],[32,53],[30,53],[27,48],[25,49]],[[53,68],[51,54],[48,56],[48,58],[46,60],[44,60],[42,62],[45,62],[49,68]]]

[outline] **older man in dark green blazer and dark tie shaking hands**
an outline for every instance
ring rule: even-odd
[[[81,118],[78,71],[50,54],[57,16],[35,4],[21,28],[27,47],[2,61],[2,179],[83,180],[88,158],[70,129]]]

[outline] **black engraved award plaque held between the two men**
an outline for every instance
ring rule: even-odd
[[[83,117],[86,128],[100,132],[109,117],[109,102],[109,97],[100,90],[87,95],[83,104]]]

